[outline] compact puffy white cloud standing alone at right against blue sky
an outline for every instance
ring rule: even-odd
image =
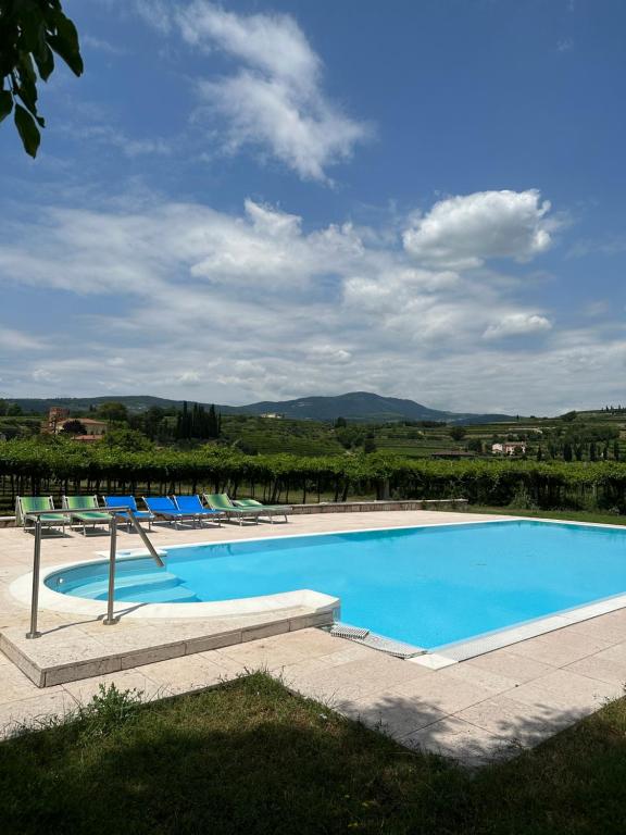
[[[490,258],[524,261],[550,247],[555,222],[539,191],[477,191],[440,200],[404,232],[404,247],[427,263],[479,266]]]

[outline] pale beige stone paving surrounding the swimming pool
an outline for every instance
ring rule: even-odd
[[[167,546],[503,519],[442,511],[334,513],[293,516],[288,524],[228,524],[221,529],[174,531],[156,525],[151,538],[156,546]],[[105,534],[46,535],[42,566],[97,559],[108,544]],[[118,549],[135,547],[139,547],[137,535],[121,531]],[[15,528],[1,529],[0,631],[27,631],[28,609],[15,600],[9,586],[32,569],[32,561],[33,536]],[[297,616],[302,618],[298,623]],[[408,747],[478,765],[537,745],[622,696],[626,682],[626,609],[438,670],[333,637],[308,625],[303,610],[293,614],[293,625],[289,616],[271,613],[239,624],[229,621],[230,631],[239,630],[241,636],[236,643],[217,643],[215,648],[162,660],[159,651],[150,655],[146,636],[161,645],[163,631],[198,637],[196,619],[173,625],[171,621],[122,618],[118,625],[104,627],[98,618],[42,610],[43,635],[34,643],[42,648],[48,641],[52,653],[58,641],[77,662],[90,643],[137,649],[139,641],[140,651],[129,656],[133,660],[125,669],[120,665],[105,672],[107,668],[95,668],[89,677],[43,688],[0,652],[0,734],[62,715],[89,699],[100,684],[114,682],[120,688],[137,688],[155,699],[266,669],[293,691],[388,733]],[[223,632],[222,626],[220,630]]]

